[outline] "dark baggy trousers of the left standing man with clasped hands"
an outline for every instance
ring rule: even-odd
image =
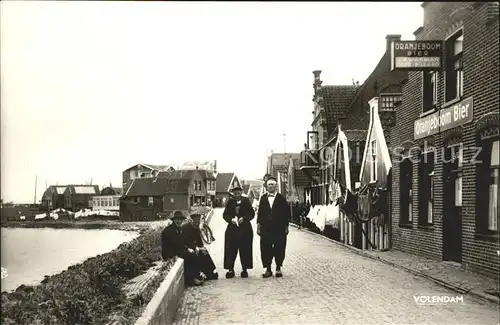
[[[234,269],[236,255],[240,253],[240,262],[243,269],[253,268],[253,231],[238,232],[235,229],[227,229],[224,238],[224,269]]]

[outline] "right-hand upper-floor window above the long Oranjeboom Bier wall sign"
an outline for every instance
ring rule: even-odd
[[[459,31],[446,41],[446,91],[445,100],[451,101],[463,96],[463,32]]]

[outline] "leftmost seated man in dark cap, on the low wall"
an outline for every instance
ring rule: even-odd
[[[187,285],[203,284],[199,254],[191,248],[182,233],[182,223],[186,217],[181,211],[175,211],[172,224],[161,233],[161,254],[164,260],[174,256],[184,259],[184,280]]]

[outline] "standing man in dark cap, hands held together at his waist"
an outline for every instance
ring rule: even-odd
[[[253,228],[250,221],[255,217],[255,211],[247,197],[242,197],[241,187],[234,187],[232,197],[222,214],[227,222],[224,237],[224,268],[227,271],[226,278],[234,277],[234,262],[236,255],[240,253],[241,277],[247,278],[249,269],[253,268]]]

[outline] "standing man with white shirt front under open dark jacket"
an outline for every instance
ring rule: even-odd
[[[276,263],[276,277],[282,277],[281,266],[285,259],[286,239],[290,222],[290,209],[285,197],[277,193],[277,181],[269,177],[267,193],[262,195],[257,212],[257,234],[260,236],[262,266],[266,269],[264,278],[273,275],[271,264]]]

